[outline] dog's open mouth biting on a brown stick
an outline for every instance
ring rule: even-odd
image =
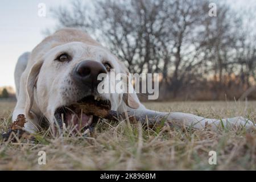
[[[62,127],[65,123],[77,131],[84,131],[92,123],[98,121],[99,118],[93,115],[93,110],[101,108],[102,110],[110,110],[110,101],[99,96],[86,96],[71,105],[57,108],[54,115],[59,126]]]

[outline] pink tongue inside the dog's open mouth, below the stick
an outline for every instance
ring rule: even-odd
[[[66,121],[68,126],[75,127],[77,130],[83,129],[85,126],[89,126],[92,123],[92,119],[90,119],[90,115],[86,115],[84,113],[75,115],[71,113],[66,114]]]

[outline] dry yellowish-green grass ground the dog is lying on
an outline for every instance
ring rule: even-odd
[[[0,102],[0,133],[7,130],[15,102]],[[150,109],[182,111],[208,118],[242,115],[256,121],[256,102],[152,102]],[[0,170],[256,170],[256,134],[244,129],[205,131],[160,127],[142,129],[127,122],[98,123],[92,137],[60,137],[47,131],[36,143],[1,142]],[[39,151],[46,165],[38,164]],[[210,165],[209,151],[217,164]]]

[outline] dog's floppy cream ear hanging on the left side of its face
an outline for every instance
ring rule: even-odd
[[[27,77],[27,82],[26,82],[27,101],[26,101],[25,113],[27,117],[30,119],[34,118],[31,113],[31,107],[34,102],[34,89],[35,89],[36,82],[38,80],[38,75],[42,65],[43,65],[43,60],[37,61],[34,65],[32,65],[32,68],[30,69],[30,72],[28,73],[28,77]]]

